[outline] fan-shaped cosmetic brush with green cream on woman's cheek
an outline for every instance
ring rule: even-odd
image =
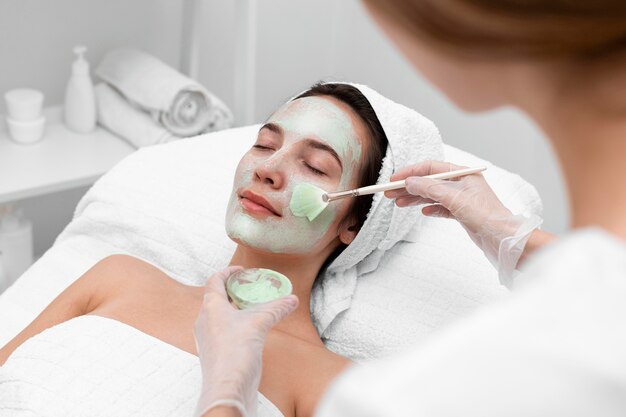
[[[482,172],[486,167],[464,168],[456,171],[441,172],[439,174],[426,175],[424,178],[434,180],[447,180],[450,178],[462,177],[465,175]],[[313,184],[303,182],[298,184],[293,190],[289,208],[294,216],[306,217],[313,221],[328,206],[331,201],[337,201],[346,197],[358,197],[360,195],[374,194],[381,191],[397,190],[406,187],[406,180],[393,181],[386,184],[369,185],[367,187],[355,188],[353,190],[337,191],[327,193]]]

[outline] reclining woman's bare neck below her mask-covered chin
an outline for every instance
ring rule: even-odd
[[[311,289],[326,257],[324,254],[320,254],[319,258],[310,254],[300,256],[273,254],[237,245],[230,265],[239,265],[244,268],[267,268],[286,275],[293,285],[293,294],[298,296],[300,304],[294,313],[276,325],[275,328],[317,342],[319,337],[311,322]]]

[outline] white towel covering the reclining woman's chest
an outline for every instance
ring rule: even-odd
[[[196,355],[117,320],[78,316],[31,337],[0,367],[0,416],[192,416]],[[258,417],[283,417],[263,394]]]

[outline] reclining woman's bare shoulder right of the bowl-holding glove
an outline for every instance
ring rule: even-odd
[[[288,381],[289,386],[280,389],[291,391],[297,416],[312,416],[328,385],[351,363],[321,341],[312,343],[281,331],[270,331],[263,356],[263,366],[272,367],[272,381],[263,378],[261,387]]]

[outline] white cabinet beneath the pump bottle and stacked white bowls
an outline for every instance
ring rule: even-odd
[[[69,131],[60,107],[44,113],[44,137],[30,145],[12,142],[0,117],[0,205],[23,208],[33,222],[35,258],[70,221],[88,187],[135,151],[101,127],[86,135]]]

